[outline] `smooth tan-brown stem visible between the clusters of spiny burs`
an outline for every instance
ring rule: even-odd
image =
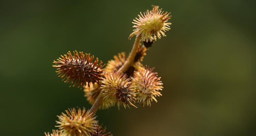
[[[133,65],[134,58],[136,56],[136,53],[137,53],[137,50],[138,50],[138,47],[139,47],[139,44],[140,44],[140,38],[141,38],[140,35],[138,35],[136,37],[129,57],[125,61],[124,65],[121,68],[118,69],[118,72],[123,72],[124,73],[124,72],[126,72],[128,70],[128,68],[131,65]],[[103,99],[102,98],[102,92],[100,92],[100,94],[97,97],[96,101],[94,102],[93,106],[91,106],[91,108],[90,108],[90,111],[89,111],[90,113],[94,113],[95,114],[97,112],[102,99]]]

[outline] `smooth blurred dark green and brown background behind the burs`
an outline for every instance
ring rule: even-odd
[[[132,48],[132,19],[159,5],[172,29],[147,52],[164,89],[158,103],[97,119],[114,136],[256,135],[256,2],[0,1],[1,135],[44,135],[83,91],[56,75],[54,59],[84,51],[104,63]]]

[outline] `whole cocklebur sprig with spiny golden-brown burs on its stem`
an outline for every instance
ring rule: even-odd
[[[140,13],[133,20],[134,30],[129,39],[136,36],[128,57],[125,52],[118,53],[114,60],[108,61],[106,67],[94,56],[83,52],[68,52],[61,55],[53,67],[62,81],[84,90],[85,97],[92,107],[69,108],[56,121],[57,130],[45,133],[45,136],[112,136],[106,128],[98,124],[95,113],[97,109],[106,109],[115,105],[120,109],[151,106],[162,96],[162,82],[154,68],[142,64],[146,51],[154,42],[166,36],[170,29],[167,22],[171,16],[154,6],[152,10]],[[143,44],[142,44],[143,43]],[[137,104],[136,104],[137,103]]]

